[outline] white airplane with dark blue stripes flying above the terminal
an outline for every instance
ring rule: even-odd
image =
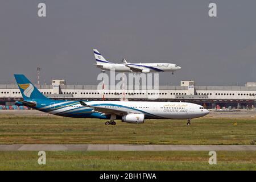
[[[171,63],[127,63],[125,59],[123,62],[125,64],[112,63],[106,60],[97,49],[93,49],[93,53],[96,59],[96,67],[102,69],[102,71],[110,71],[114,69],[115,72],[172,72],[181,69],[179,65]]]

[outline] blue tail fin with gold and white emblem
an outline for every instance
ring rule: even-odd
[[[19,86],[20,93],[24,100],[32,100],[34,98],[48,100],[24,75],[14,75]]]

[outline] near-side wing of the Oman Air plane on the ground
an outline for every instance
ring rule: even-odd
[[[80,104],[85,107],[92,107],[94,111],[98,113],[104,113],[104,114],[115,114],[115,115],[126,115],[131,114],[133,112],[127,111],[127,110],[120,110],[117,108],[105,108],[104,106],[92,106],[85,104],[85,102],[80,101]],[[123,108],[125,109],[125,108]]]

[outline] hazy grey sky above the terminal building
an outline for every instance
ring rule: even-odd
[[[46,3],[46,18],[38,3]],[[217,17],[208,16],[210,2]],[[256,81],[256,1],[1,1],[0,82],[23,73],[36,82],[65,78],[97,84],[92,49],[110,61],[168,62],[182,69],[160,73],[160,84]]]

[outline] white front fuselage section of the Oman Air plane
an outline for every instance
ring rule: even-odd
[[[89,101],[106,109],[144,114],[146,119],[192,119],[209,114],[203,106],[188,102],[144,102],[144,101]]]

